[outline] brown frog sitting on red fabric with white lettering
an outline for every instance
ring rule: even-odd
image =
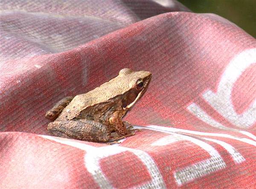
[[[47,130],[57,137],[91,142],[109,142],[135,135],[139,129],[126,126],[122,118],[148,89],[151,72],[124,68],[99,87],[58,101],[45,117]],[[112,134],[116,135],[112,135]]]

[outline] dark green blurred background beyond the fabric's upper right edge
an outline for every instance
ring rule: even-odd
[[[256,0],[178,0],[196,13],[214,13],[256,37]]]

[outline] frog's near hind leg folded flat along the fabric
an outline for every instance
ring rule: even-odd
[[[107,126],[86,119],[54,121],[48,124],[47,129],[57,137],[93,142],[107,142],[111,139],[111,132]]]

